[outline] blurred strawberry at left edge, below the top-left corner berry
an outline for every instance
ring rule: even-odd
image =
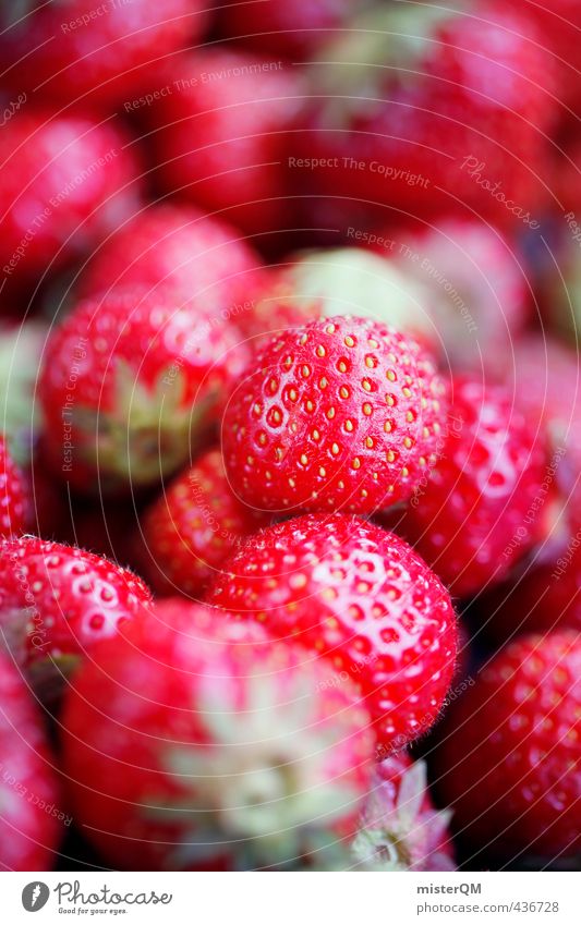
[[[14,115],[0,135],[3,299],[90,252],[133,215],[140,172],[130,139],[110,122]]]

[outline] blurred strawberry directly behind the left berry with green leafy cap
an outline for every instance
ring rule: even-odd
[[[249,307],[244,293],[258,267],[256,254],[226,222],[193,207],[149,206],[97,251],[78,292],[169,284],[223,321]]]

